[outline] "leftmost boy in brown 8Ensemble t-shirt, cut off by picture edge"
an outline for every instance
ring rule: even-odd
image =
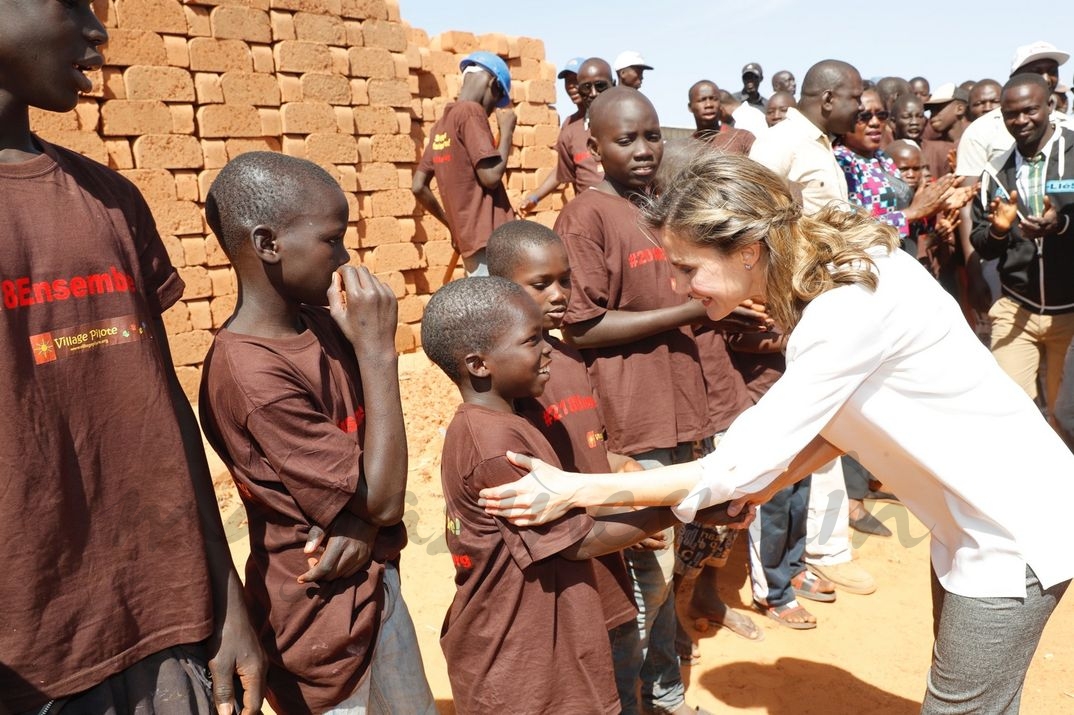
[[[93,88],[93,5],[0,0],[0,713],[207,715],[237,671],[250,715],[263,656],[161,317],[183,280],[133,184],[30,130]]]

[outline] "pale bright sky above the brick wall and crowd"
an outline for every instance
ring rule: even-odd
[[[999,0],[902,0],[836,3],[817,0],[400,0],[403,19],[430,37],[446,30],[538,38],[556,68],[571,57],[640,52],[655,70],[643,91],[669,127],[694,126],[686,91],[712,79],[728,91],[742,88],[742,65],[771,76],[790,70],[801,84],[822,59],[851,62],[866,78],[921,75],[933,89],[945,82],[992,77],[1011,71],[1015,47],[1046,40],[1074,53],[1074,2],[1011,3]],[[847,9],[851,8],[851,9]],[[1072,84],[1074,61],[1059,70]],[[574,105],[560,83],[561,116]]]

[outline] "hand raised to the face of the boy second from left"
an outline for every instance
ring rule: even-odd
[[[339,330],[363,359],[395,356],[398,301],[365,266],[345,265],[332,276],[329,309]]]

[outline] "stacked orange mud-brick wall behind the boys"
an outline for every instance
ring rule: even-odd
[[[539,40],[430,38],[403,21],[396,0],[95,0],[93,6],[110,34],[93,91],[74,112],[34,112],[32,126],[118,170],[145,194],[187,283],[164,318],[191,398],[214,332],[236,298],[234,273],[202,210],[230,159],[284,151],[317,162],[339,181],[350,204],[346,245],[353,261],[400,300],[401,352],[420,347],[422,310],[452,258],[447,230],[422,215],[410,183],[433,122],[459,92],[463,56],[488,49],[511,69],[519,116],[506,178],[512,203],[555,165],[556,70]],[[550,223],[562,203],[562,194],[549,196],[536,218]]]

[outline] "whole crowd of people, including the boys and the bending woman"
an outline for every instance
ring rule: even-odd
[[[206,198],[241,297],[199,405],[248,515],[241,581],[161,319],[184,284],[145,200],[30,131],[31,107],[90,89],[105,28],[88,2],[0,8],[18,425],[0,438],[0,715],[436,712],[400,593],[397,306],[348,265],[343,191],[255,151]],[[1063,506],[1029,513],[1001,490],[1021,452],[968,456],[963,438],[995,428],[1034,455],[1030,494],[1074,464],[1068,58],[1037,42],[1003,84],[934,91],[824,60],[768,98],[749,62],[736,93],[684,88],[679,142],[641,54],[576,58],[557,166],[513,207],[510,73],[462,61],[412,187],[467,274],[422,321],[462,399],[441,459],[456,712],[703,712],[681,674],[694,624],[761,638],[716,587],[738,535],[756,612],[815,628],[802,600],[876,588],[848,538],[890,534],[875,498],[933,525],[923,712],[1017,712],[1074,575],[1050,532]],[[565,184],[553,228],[518,220]]]

